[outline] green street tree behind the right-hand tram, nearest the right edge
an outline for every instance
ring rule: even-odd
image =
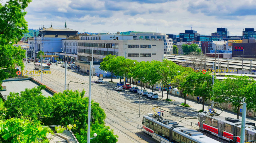
[[[252,104],[249,99],[245,100],[250,95],[250,87],[253,79],[247,76],[226,76],[222,82],[214,83],[213,99],[220,103],[231,103],[239,118],[239,108],[242,106],[242,101],[247,102],[248,107]],[[254,95],[255,98],[255,95]]]

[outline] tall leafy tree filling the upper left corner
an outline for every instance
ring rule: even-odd
[[[0,67],[6,68],[0,70],[0,85],[5,78],[16,75],[16,66],[24,68],[22,59],[25,51],[9,42],[17,43],[23,36],[22,33],[28,32],[24,16],[27,14],[25,8],[30,2],[31,0],[9,0],[5,5],[0,4]]]

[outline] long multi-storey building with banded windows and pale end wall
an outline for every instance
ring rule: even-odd
[[[113,37],[115,38],[113,39]],[[92,61],[93,52],[93,61],[102,61],[108,54],[123,56],[139,62],[162,61],[163,46],[164,42],[161,40],[133,40],[133,35],[82,35],[78,40],[78,60]]]

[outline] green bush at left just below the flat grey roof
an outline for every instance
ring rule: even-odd
[[[36,122],[36,120],[41,120],[43,117],[51,117],[53,112],[52,103],[50,98],[42,95],[43,89],[45,89],[45,85],[25,89],[20,94],[10,92],[8,100],[4,102],[7,108],[6,118],[30,117]]]

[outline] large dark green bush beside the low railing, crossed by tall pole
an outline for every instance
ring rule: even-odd
[[[78,131],[87,126],[88,119],[88,98],[84,97],[85,91],[64,91],[59,92],[52,97],[53,112],[52,118],[48,118],[49,125],[76,124]],[[99,104],[92,101],[91,115],[93,116],[92,124],[105,124],[106,114]],[[76,130],[76,131],[77,131]],[[73,131],[73,132],[76,132]]]

